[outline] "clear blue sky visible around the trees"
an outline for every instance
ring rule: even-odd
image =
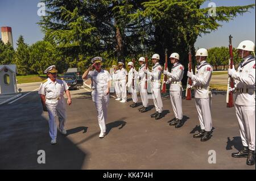
[[[40,16],[37,15],[40,0],[0,0],[0,27],[9,26],[13,30],[13,41],[19,35],[24,36],[28,44],[42,40],[43,33],[38,26]],[[206,1],[202,7],[208,7],[210,2],[216,6],[243,6],[254,4],[255,0],[214,0]],[[228,45],[228,36],[232,34],[233,46],[236,47],[242,40],[251,40],[255,43],[255,9],[237,16],[228,23],[221,23],[217,31],[203,35],[197,39],[195,47],[211,48]]]

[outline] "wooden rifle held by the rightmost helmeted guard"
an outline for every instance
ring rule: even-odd
[[[232,36],[229,35],[229,69],[233,69],[233,47],[232,47]],[[229,91],[229,87],[234,88],[234,81],[232,77],[228,78],[228,89],[226,90],[226,107],[234,107],[233,92]]]

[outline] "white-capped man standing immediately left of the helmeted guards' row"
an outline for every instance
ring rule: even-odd
[[[118,77],[118,87],[120,90],[120,99],[115,99],[115,100],[120,100],[121,103],[126,103],[127,102],[127,91],[126,91],[126,82],[127,82],[127,77],[128,73],[125,68],[123,68],[123,62],[118,62],[118,70],[115,71],[115,74],[117,74]]]

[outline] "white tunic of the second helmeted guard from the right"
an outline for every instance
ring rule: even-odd
[[[192,77],[193,86],[195,87],[195,98],[210,98],[210,78],[212,78],[212,65],[206,61],[201,61],[197,66],[196,76]]]

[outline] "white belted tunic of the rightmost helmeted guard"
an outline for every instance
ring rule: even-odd
[[[243,63],[238,66],[235,75],[236,104],[240,106],[255,106],[255,58],[249,56],[243,59]]]

